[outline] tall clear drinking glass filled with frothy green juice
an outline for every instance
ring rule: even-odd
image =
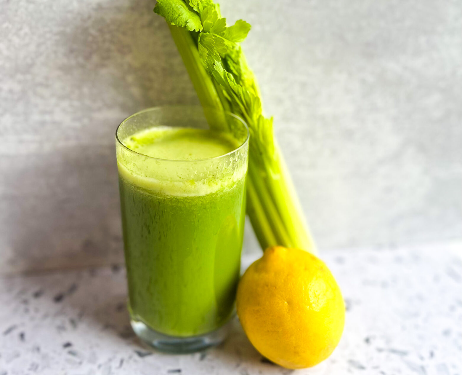
[[[175,149],[169,150],[168,140],[161,145],[177,157],[160,159],[128,147],[153,128],[184,133],[182,147],[172,143]],[[188,158],[188,144],[201,148],[199,138],[187,139],[188,129],[225,134],[235,147],[219,156]],[[240,118],[198,106],[151,108],[117,129],[131,324],[159,350],[201,350],[225,337],[239,278],[248,146],[249,131]]]

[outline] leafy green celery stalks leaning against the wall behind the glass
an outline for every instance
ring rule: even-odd
[[[158,0],[185,67],[213,126],[223,110],[249,125],[247,214],[260,246],[298,247],[316,253],[292,179],[274,140],[273,122],[262,116],[260,92],[239,43],[250,25],[226,26],[212,0]],[[207,109],[215,111],[207,111]],[[218,114],[217,114],[218,113]]]

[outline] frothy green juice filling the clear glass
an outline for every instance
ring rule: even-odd
[[[230,318],[239,277],[247,161],[219,156],[240,144],[211,130],[168,127],[122,143],[132,319],[170,336],[211,332]]]

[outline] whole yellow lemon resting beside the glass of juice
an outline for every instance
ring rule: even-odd
[[[322,260],[275,246],[244,273],[237,289],[237,315],[263,356],[301,369],[334,351],[343,331],[345,304]]]

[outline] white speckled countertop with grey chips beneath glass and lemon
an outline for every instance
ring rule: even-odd
[[[237,320],[224,344],[201,353],[141,346],[122,265],[3,277],[0,375],[461,375],[461,252],[460,243],[323,252],[346,300],[345,331],[331,357],[295,372],[265,361]]]

